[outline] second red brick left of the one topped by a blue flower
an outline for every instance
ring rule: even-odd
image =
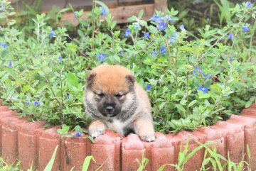
[[[33,169],[37,168],[38,144],[35,131],[45,124],[45,121],[18,124],[18,160],[21,161],[23,170],[28,170],[31,165]]]

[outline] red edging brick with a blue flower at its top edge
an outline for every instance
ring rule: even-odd
[[[74,170],[82,170],[82,164],[88,154],[86,151],[88,139],[85,134],[81,137],[65,137],[62,140],[63,147],[60,152],[61,170],[70,171],[74,166]]]

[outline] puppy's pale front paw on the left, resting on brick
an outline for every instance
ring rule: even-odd
[[[92,138],[97,138],[105,133],[106,126],[102,121],[92,121],[89,126],[89,134]]]

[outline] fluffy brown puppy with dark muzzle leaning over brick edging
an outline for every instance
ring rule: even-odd
[[[110,128],[123,136],[134,131],[142,140],[155,140],[149,97],[125,67],[95,67],[87,77],[84,98],[92,137]]]

